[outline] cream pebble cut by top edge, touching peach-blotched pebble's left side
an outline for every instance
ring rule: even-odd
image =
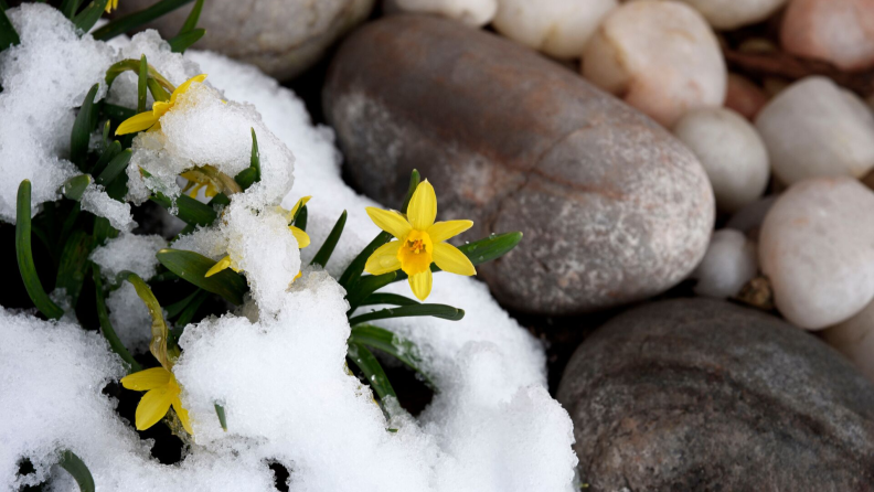
[[[578,58],[617,0],[500,0],[494,29],[561,60]]]

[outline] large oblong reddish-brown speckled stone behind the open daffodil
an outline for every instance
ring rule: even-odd
[[[511,41],[396,15],[353,33],[323,93],[355,186],[397,204],[418,169],[462,236],[522,231],[479,275],[513,309],[568,314],[657,295],[707,247],[713,192],[667,130]]]

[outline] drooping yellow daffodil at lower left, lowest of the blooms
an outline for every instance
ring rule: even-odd
[[[147,392],[137,405],[137,430],[146,430],[157,424],[172,405],[182,427],[190,435],[194,435],[188,410],[182,407],[182,400],[179,399],[182,389],[172,372],[163,367],[148,368],[122,377],[121,386],[135,392]]]

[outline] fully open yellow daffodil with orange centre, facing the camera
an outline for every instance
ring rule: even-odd
[[[437,222],[437,195],[428,180],[416,186],[409,200],[407,215],[369,206],[367,215],[381,229],[397,240],[373,252],[364,270],[383,275],[397,269],[409,277],[409,288],[419,300],[431,290],[431,261],[444,271],[471,276],[477,274],[473,264],[457,247],[444,243],[473,226],[471,221]]]

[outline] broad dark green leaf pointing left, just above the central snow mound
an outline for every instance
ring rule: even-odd
[[[205,277],[215,261],[194,252],[168,248],[158,252],[157,256],[161,265],[178,275],[179,278],[188,280],[203,290],[217,293],[232,304],[243,303],[243,295],[248,290],[248,285],[245,277],[236,271],[227,268],[212,277]]]

